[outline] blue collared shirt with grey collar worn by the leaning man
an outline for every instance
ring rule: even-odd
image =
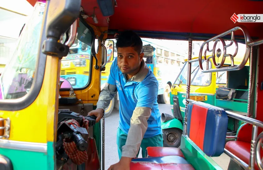
[[[151,116],[147,120],[147,130],[144,138],[162,134],[161,114],[157,103],[158,81],[142,60],[139,72],[129,81],[117,66],[117,59],[111,65],[107,83],[116,85],[119,94],[119,127],[128,134],[130,121],[136,107],[149,107],[152,109]]]

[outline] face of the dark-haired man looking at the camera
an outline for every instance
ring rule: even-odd
[[[143,53],[139,55],[134,47],[118,47],[117,54],[118,67],[122,73],[132,74],[140,70],[139,66],[143,59]]]

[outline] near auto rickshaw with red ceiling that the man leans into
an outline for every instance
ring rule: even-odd
[[[95,123],[95,117],[89,117],[87,113],[96,108],[100,94],[101,71],[107,61],[103,43],[127,29],[135,30],[141,37],[188,40],[189,44],[181,146],[148,147],[146,158],[133,159],[130,169],[221,170],[211,157],[220,156],[223,152],[231,158],[228,170],[263,168],[263,114],[260,112],[263,106],[260,100],[263,93],[263,72],[260,67],[263,61],[263,53],[260,52],[263,48],[263,24],[242,22],[237,25],[236,16],[240,17],[241,14],[233,15],[230,10],[260,13],[262,2],[28,2],[34,5],[34,13],[25,24],[17,49],[0,77],[2,169],[105,169],[105,119],[102,119],[101,125],[101,122]],[[237,5],[239,3],[243,4]],[[218,5],[222,5],[224,13],[214,10]],[[189,10],[174,10],[178,6]],[[158,13],[149,15],[150,10]],[[224,23],[220,23],[222,20]],[[202,23],[205,27],[200,27]],[[69,88],[66,86],[68,82],[59,76],[61,59],[68,55],[75,39],[83,41],[91,49],[89,80],[81,89]],[[220,71],[241,74],[240,71],[249,61],[248,116],[237,114],[238,107],[225,110],[190,99],[191,66],[196,61],[192,60],[193,40],[205,40],[198,58],[199,68],[205,74]],[[245,54],[240,64],[235,64],[235,52],[227,52],[231,45],[224,44],[225,40],[230,40],[237,51],[237,42],[245,44]],[[209,46],[212,41],[220,41],[223,49]],[[203,51],[212,52],[212,55],[206,57],[204,52],[202,58]],[[220,56],[222,60],[218,61]],[[224,64],[229,57],[233,61],[230,66]],[[209,67],[210,61],[215,68]],[[203,66],[203,62],[208,64]],[[32,84],[27,82],[22,90],[10,90],[17,83],[19,74],[23,74]],[[231,88],[227,85],[223,90],[230,92]],[[245,122],[235,136],[227,135],[230,117]],[[235,140],[225,144],[226,138]]]

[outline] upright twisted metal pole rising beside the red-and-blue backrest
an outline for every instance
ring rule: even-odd
[[[184,125],[183,125],[183,135],[187,134],[187,106],[190,99],[190,84],[191,84],[191,62],[192,59],[192,39],[188,39],[188,73],[187,73],[187,82],[186,82],[186,104],[184,111]]]

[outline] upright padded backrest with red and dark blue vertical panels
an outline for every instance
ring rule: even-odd
[[[188,137],[208,156],[224,152],[228,117],[224,109],[193,101],[187,107]]]

